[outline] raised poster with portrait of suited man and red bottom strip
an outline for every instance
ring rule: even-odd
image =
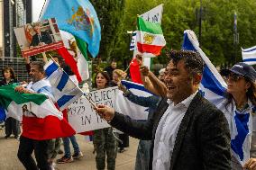
[[[14,28],[23,58],[64,46],[55,18]]]

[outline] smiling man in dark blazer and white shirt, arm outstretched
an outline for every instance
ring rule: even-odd
[[[193,51],[170,51],[163,99],[147,122],[133,121],[113,108],[96,112],[118,130],[151,139],[150,169],[231,169],[230,133],[224,113],[199,92],[204,63]]]

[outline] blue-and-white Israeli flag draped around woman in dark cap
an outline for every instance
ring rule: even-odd
[[[209,58],[206,57],[203,50],[199,48],[197,36],[194,31],[184,31],[182,49],[197,51],[206,63],[200,85],[200,91],[207,100],[215,104],[218,109],[224,112],[231,131],[231,148],[233,157],[235,157],[243,166],[250,158],[252,130],[251,113],[248,111],[242,113],[237,112],[236,108],[233,107],[235,106],[235,103],[229,104],[228,107],[225,106],[226,101],[224,93],[227,85],[215,66],[211,63]]]

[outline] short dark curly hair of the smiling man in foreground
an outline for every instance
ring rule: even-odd
[[[203,74],[204,61],[198,52],[193,50],[169,50],[166,55],[174,65],[177,65],[180,60],[184,60],[185,67],[190,75]]]

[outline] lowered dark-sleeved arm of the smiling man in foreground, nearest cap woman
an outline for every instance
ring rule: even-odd
[[[230,131],[224,113],[208,107],[197,121],[197,141],[207,170],[231,169]]]

